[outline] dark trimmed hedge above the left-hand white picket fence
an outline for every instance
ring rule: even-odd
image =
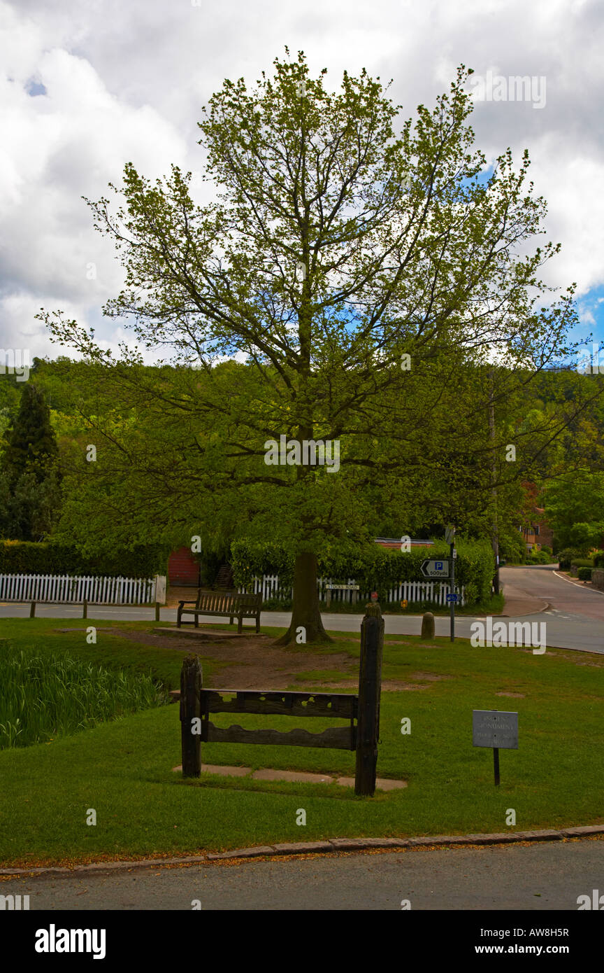
[[[91,559],[63,544],[0,541],[0,574],[151,578],[154,574],[166,573],[168,554],[164,545],[139,545],[132,551],[120,550]]]

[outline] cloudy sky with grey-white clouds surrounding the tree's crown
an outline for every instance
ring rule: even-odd
[[[201,106],[225,77],[270,73],[285,45],[332,89],[344,69],[392,78],[403,118],[472,67],[477,145],[528,148],[562,244],[547,282],[576,281],[581,335],[604,339],[603,24],[601,0],[0,0],[0,348],[69,351],[41,306],[106,346],[124,338],[101,314],[121,270],[81,197],[107,195],[128,161],[198,171]],[[519,75],[533,87],[511,100]]]

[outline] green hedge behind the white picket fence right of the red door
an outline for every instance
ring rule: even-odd
[[[464,541],[456,544],[455,584],[464,587],[468,604],[487,599],[495,570],[488,541]],[[354,578],[361,588],[377,591],[381,599],[399,581],[425,580],[419,570],[424,558],[448,558],[449,545],[436,541],[431,547],[414,547],[408,553],[392,551],[379,544],[346,545],[319,556],[319,577],[334,581]],[[278,574],[288,587],[293,579],[293,556],[270,543],[250,544],[245,540],[231,545],[231,564],[237,585],[248,586],[254,577]]]

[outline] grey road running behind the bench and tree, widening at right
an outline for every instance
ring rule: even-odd
[[[510,616],[509,621],[546,623],[547,644],[562,649],[579,649],[604,654],[604,594],[572,584],[558,575],[552,565],[531,567],[503,567],[501,581],[504,588],[513,595],[513,603],[521,605],[522,595],[527,597],[531,614]],[[520,595],[520,597],[519,597]],[[535,610],[537,603],[546,608]],[[27,618],[28,605],[0,604],[0,618]],[[38,605],[36,614],[41,618],[82,618],[82,607],[69,605]],[[152,620],[150,608],[96,608],[88,607],[88,614],[96,620]],[[361,615],[339,615],[325,612],[322,615],[325,629],[332,631],[359,631]],[[289,625],[288,612],[262,612],[260,622],[265,626],[286,627]],[[176,609],[164,608],[162,622],[176,622]],[[227,618],[215,619],[228,622]],[[456,619],[455,631],[468,638],[472,616]],[[386,633],[419,634],[421,621],[419,615],[386,615]],[[247,628],[247,626],[246,626]],[[250,624],[250,628],[252,625]],[[445,616],[436,619],[436,634],[449,634],[449,619]]]

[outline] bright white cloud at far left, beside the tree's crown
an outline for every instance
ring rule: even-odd
[[[34,353],[43,353],[38,350],[42,346],[47,353],[44,331],[24,319],[24,307],[33,313],[43,304],[69,304],[82,318],[121,282],[113,248],[94,232],[82,197],[106,193],[110,180],[119,182],[127,161],[152,177],[167,171],[171,162],[185,164],[186,147],[151,105],[127,104],[107,90],[83,56],[45,50],[30,20],[4,18],[4,27],[1,337],[13,345],[25,332],[36,345]],[[13,33],[14,46],[7,43],[7,32]],[[27,93],[26,81],[33,76],[44,84],[46,95]]]

